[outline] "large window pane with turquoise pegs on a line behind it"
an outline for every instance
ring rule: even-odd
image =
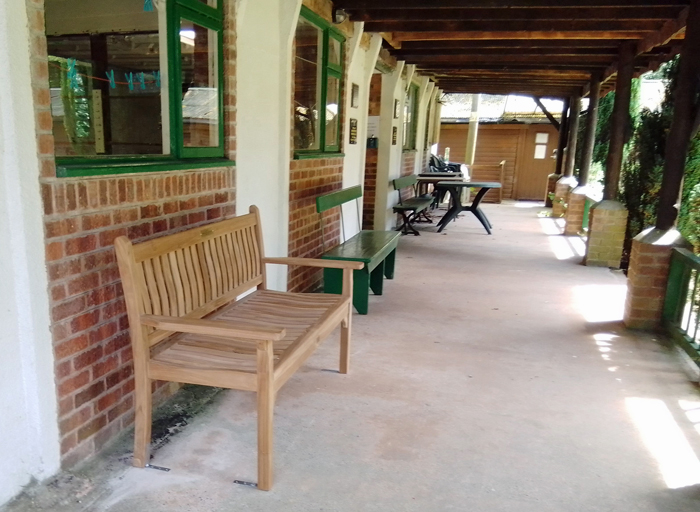
[[[75,4],[46,0],[56,156],[169,153],[164,16]]]

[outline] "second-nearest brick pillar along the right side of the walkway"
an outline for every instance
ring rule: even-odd
[[[584,263],[591,267],[620,268],[625,243],[627,209],[605,200],[591,207]]]

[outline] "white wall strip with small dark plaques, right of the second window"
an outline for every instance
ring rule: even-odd
[[[353,37],[346,42],[349,55],[345,101],[345,127],[343,144],[345,159],[343,161],[343,188],[363,185],[365,179],[365,160],[367,158],[367,117],[369,113],[369,86],[372,73],[381,49],[382,39],[378,34],[372,36],[368,50],[360,46],[363,23],[355,23]],[[360,87],[357,107],[351,106],[352,84]],[[357,144],[350,144],[350,119],[357,120]],[[343,206],[345,237],[350,238],[361,229],[362,198]],[[359,212],[359,216],[358,216]]]

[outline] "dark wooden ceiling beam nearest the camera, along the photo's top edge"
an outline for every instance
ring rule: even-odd
[[[427,0],[334,0],[341,9],[424,9]],[[465,5],[466,4],[466,5]],[[430,0],[431,9],[537,8],[537,7],[669,7],[687,6],[687,0]]]

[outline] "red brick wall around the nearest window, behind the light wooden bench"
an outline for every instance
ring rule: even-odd
[[[235,158],[235,2],[224,31],[225,145]],[[112,242],[144,240],[231,217],[233,166],[57,178],[43,0],[27,0],[44,209],[51,331],[64,466],[84,460],[133,422],[128,323]],[[156,400],[177,386],[154,385]]]

